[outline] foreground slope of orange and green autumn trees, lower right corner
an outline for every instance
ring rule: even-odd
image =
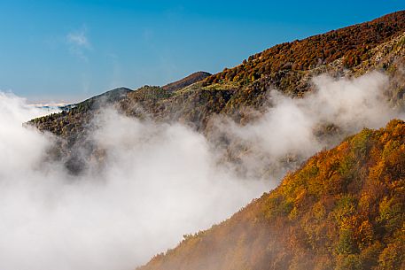
[[[404,269],[404,168],[405,122],[364,129],[139,270]]]

